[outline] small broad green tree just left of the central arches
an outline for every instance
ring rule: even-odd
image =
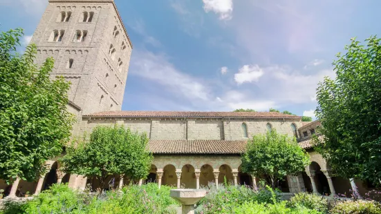
[[[97,126],[90,137],[75,139],[66,148],[62,167],[66,173],[95,177],[103,190],[106,179],[114,175],[132,180],[147,177],[153,158],[147,144],[147,135],[124,126]]]

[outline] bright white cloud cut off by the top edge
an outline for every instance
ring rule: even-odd
[[[219,19],[232,19],[233,0],[203,0],[205,12],[219,14]]]

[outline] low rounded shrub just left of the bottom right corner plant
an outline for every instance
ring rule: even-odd
[[[322,213],[326,213],[328,211],[328,201],[322,196],[310,193],[295,194],[295,196],[288,202],[288,206],[292,208],[304,206]]]

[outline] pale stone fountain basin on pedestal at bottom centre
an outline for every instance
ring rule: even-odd
[[[171,197],[182,206],[183,214],[194,214],[194,204],[205,197],[206,191],[202,189],[173,189]]]

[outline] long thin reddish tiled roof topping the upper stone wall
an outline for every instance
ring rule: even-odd
[[[105,111],[84,117],[275,117],[300,118],[295,115],[269,112],[205,112],[205,111]]]

